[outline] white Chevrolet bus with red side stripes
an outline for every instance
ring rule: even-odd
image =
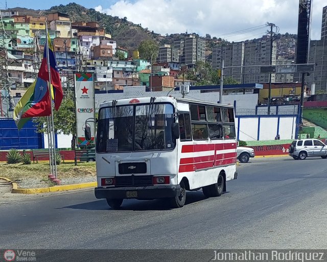
[[[173,97],[102,103],[96,139],[97,199],[167,199],[182,207],[186,190],[218,197],[237,179],[231,105]],[[85,137],[89,137],[86,128]]]

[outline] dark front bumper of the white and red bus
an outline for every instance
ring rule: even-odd
[[[96,187],[97,199],[162,199],[174,198],[180,193],[179,185],[142,187]]]

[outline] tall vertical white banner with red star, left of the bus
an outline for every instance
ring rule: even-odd
[[[77,145],[86,146],[95,144],[94,122],[87,123],[91,128],[91,140],[86,140],[84,135],[85,120],[95,117],[94,81],[91,73],[75,74],[75,96]]]

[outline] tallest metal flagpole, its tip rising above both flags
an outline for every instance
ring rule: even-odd
[[[50,69],[50,58],[49,58],[49,39],[48,39],[48,19],[45,18],[45,34],[46,34],[46,64],[48,65],[48,73],[49,73],[49,96],[51,102],[51,116],[50,116],[50,133],[52,137],[52,163],[54,166],[54,176],[56,180],[58,179],[57,176],[57,163],[56,163],[56,141],[55,141],[55,127],[53,121],[53,108],[52,108],[52,97],[51,97],[51,69]]]

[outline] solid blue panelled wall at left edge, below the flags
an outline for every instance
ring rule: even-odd
[[[36,127],[30,120],[18,132],[15,121],[0,118],[0,150],[44,148],[43,134],[36,133]]]

